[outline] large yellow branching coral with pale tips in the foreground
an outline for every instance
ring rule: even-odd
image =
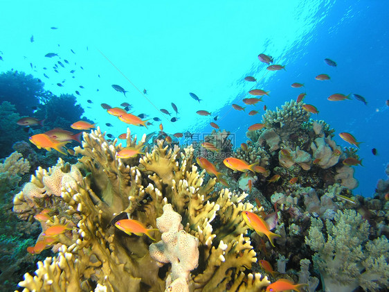
[[[127,139],[127,146],[134,143]],[[82,148],[76,150],[83,155],[78,164],[60,161],[48,172],[38,170],[31,182],[35,187],[15,197],[15,211],[21,218],[31,218],[43,208],[53,210],[51,220],[42,223],[43,231],[58,223],[73,226],[55,241],[54,250],[60,248],[60,254],[39,264],[37,276],[25,275],[20,283],[24,291],[70,287],[72,291],[123,291],[129,286],[132,291],[164,291],[165,286],[188,286],[190,291],[225,291],[233,286],[237,291],[257,291],[269,284],[266,277],[248,273],[256,254],[245,236],[241,213],[255,208],[244,201],[246,194],[215,191],[212,178],[205,183],[205,171],[199,173],[192,164],[192,147],[181,151],[157,141],[140,160],[121,160],[116,156],[120,148],[116,141],[109,144],[100,129],[84,134]],[[62,179],[47,184],[58,169]],[[189,273],[194,268],[186,279],[159,276],[160,267],[149,252],[151,240],[114,227],[118,218],[132,218],[155,228],[167,204],[182,218],[181,231],[199,243],[199,264],[188,269]],[[161,234],[155,235],[161,239]],[[168,275],[172,272],[170,268]],[[49,276],[42,277],[44,273]]]

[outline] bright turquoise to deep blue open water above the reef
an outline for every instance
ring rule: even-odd
[[[371,196],[389,162],[388,11],[389,3],[379,0],[147,1],[147,5],[141,1],[7,1],[0,11],[0,71],[13,68],[33,74],[57,95],[79,90],[85,117],[113,135],[120,135],[127,125],[102,110],[100,103],[118,106],[127,101],[136,114],[161,117],[165,131],[172,133],[208,133],[209,122],[217,114],[220,128],[233,133],[236,144],[246,140],[246,129],[261,122],[263,113],[262,104],[248,105],[246,112],[230,106],[253,85],[243,81],[245,76],[255,76],[259,88],[271,91],[264,98],[271,110],[307,92],[305,102],[315,105],[320,111],[317,118],[336,130],[338,144],[349,146],[339,132],[350,132],[364,142],[359,151],[364,166],[356,168],[360,184],[354,194]],[[51,68],[59,60],[44,57],[50,52],[71,65],[60,74],[48,71],[47,79],[42,67]],[[259,53],[272,55],[287,71],[266,71],[257,59]],[[324,58],[338,66],[329,67]],[[30,62],[36,68],[31,69]],[[74,79],[71,69],[76,69]],[[322,73],[332,80],[314,79]],[[57,87],[62,80],[66,80],[64,87]],[[294,82],[305,83],[305,88],[292,88]],[[112,84],[128,90],[127,98],[115,92]],[[148,100],[138,92],[143,89]],[[197,94],[201,103],[189,92]],[[356,100],[327,101],[334,93],[360,94],[368,106]],[[172,112],[172,102],[180,112],[176,123],[157,110]],[[253,109],[260,114],[249,117],[247,112]],[[197,110],[208,110],[212,117],[199,117]],[[154,122],[150,131],[159,130],[158,126]],[[138,135],[145,132],[131,128]],[[372,155],[372,148],[379,155]]]

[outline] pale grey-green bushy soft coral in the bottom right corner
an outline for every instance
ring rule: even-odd
[[[389,285],[389,241],[369,240],[369,223],[354,210],[338,211],[334,223],[311,218],[305,243],[316,253],[314,266],[320,271],[325,291],[377,291]]]

